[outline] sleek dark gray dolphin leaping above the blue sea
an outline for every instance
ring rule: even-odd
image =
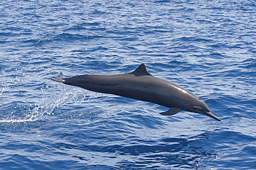
[[[165,116],[177,114],[179,111],[190,111],[204,114],[216,120],[221,120],[210,112],[208,106],[188,89],[152,76],[147,72],[145,64],[141,64],[134,72],[114,75],[82,75],[64,78],[60,74],[52,78],[66,85],[74,85],[93,92],[115,94],[136,100],[143,100],[170,107],[160,113]]]

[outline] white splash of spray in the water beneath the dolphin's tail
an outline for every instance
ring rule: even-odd
[[[86,100],[91,98],[82,89],[63,85],[42,87],[36,93],[38,96],[34,96],[30,101],[8,103],[5,106],[4,114],[1,115],[0,123],[28,123],[51,119],[51,116],[59,112],[59,107],[68,104],[80,105],[85,98]]]

